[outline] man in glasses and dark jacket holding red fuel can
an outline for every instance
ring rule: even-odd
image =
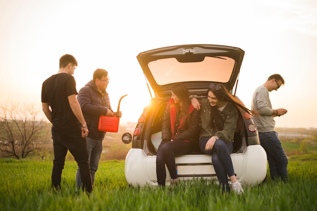
[[[105,132],[98,130],[99,117],[101,115],[108,117],[113,116],[109,95],[106,92],[109,80],[108,72],[106,70],[97,69],[93,74],[93,80],[90,80],[83,88],[81,88],[77,96],[89,129],[89,134],[86,139],[93,184],[103,149],[102,140],[106,134]],[[121,113],[119,115],[121,117]],[[80,188],[82,185],[80,175],[80,169],[77,168],[77,188]]]

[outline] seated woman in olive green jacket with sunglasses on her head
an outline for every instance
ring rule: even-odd
[[[200,149],[205,154],[212,154],[212,163],[222,185],[222,191],[230,191],[228,176],[232,190],[241,194],[244,190],[235,178],[230,153],[233,150],[234,133],[242,133],[244,129],[240,109],[249,114],[252,112],[232,96],[223,85],[211,84],[207,94],[208,98],[202,99],[200,106],[197,99],[192,100],[196,109],[201,107]]]

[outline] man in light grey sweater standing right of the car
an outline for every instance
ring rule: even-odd
[[[273,74],[268,77],[267,81],[259,86],[253,94],[251,108],[260,113],[258,117],[254,117],[254,123],[259,132],[261,146],[267,154],[270,176],[273,180],[281,179],[287,181],[287,165],[288,158],[275,132],[274,117],[280,117],[287,113],[286,109],[272,109],[269,99],[269,92],[277,91],[285,81],[279,74]]]

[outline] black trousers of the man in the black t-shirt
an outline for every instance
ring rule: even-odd
[[[86,139],[81,137],[81,133],[54,133],[52,132],[54,146],[54,161],[52,171],[52,185],[55,189],[61,188],[62,170],[65,165],[67,151],[74,156],[81,170],[81,180],[83,190],[93,191],[90,167],[88,161],[88,151]]]

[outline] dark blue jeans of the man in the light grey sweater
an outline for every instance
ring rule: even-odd
[[[259,133],[261,146],[265,149],[270,175],[273,180],[287,181],[288,158],[282,147],[282,143],[275,131]]]

